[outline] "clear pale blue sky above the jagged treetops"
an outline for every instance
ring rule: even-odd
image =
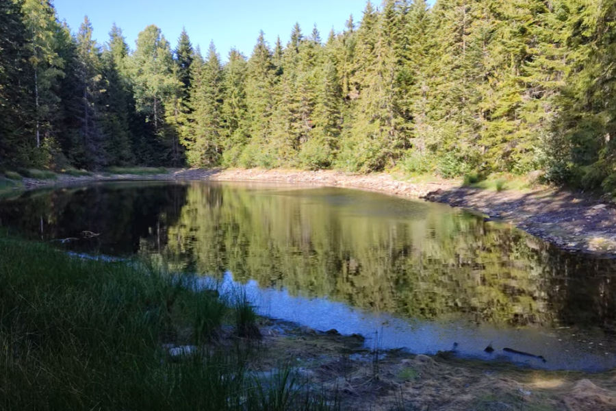
[[[123,29],[131,48],[137,34],[155,24],[175,48],[183,26],[194,46],[205,52],[214,40],[218,52],[226,60],[231,47],[250,55],[263,29],[273,45],[278,35],[286,44],[293,25],[300,23],[305,34],[316,23],[325,40],[331,27],[342,31],[350,14],[361,19],[365,0],[55,0],[60,21],[66,19],[76,32],[88,16],[94,27],[94,38],[105,42],[114,21]],[[380,1],[373,1],[380,3]]]

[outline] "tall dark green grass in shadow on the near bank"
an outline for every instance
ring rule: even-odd
[[[331,409],[288,376],[260,384],[241,339],[214,343],[234,308],[183,275],[5,234],[0,256],[3,411]],[[163,344],[204,349],[170,358]]]

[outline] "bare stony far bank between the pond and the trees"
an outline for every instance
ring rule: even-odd
[[[485,214],[486,219],[511,223],[569,251],[616,256],[616,207],[591,195],[548,186],[501,191],[462,186],[445,179],[406,179],[392,174],[352,175],[339,171],[264,169],[176,169],[157,175],[94,173],[58,175],[56,179],[24,178],[21,188],[66,186],[94,181],[172,180],[280,182],[360,188],[446,203]]]

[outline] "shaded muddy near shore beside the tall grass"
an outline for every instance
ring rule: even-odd
[[[616,371],[539,371],[448,353],[375,352],[355,335],[264,322],[263,349],[251,369],[272,375],[277,365],[291,364],[308,384],[337,392],[342,410],[616,410]]]

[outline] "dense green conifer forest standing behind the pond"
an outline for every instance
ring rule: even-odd
[[[0,169],[541,171],[614,192],[615,25],[616,0],[383,0],[221,57],[0,0]]]

